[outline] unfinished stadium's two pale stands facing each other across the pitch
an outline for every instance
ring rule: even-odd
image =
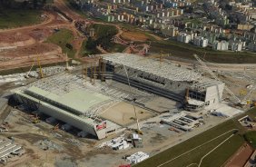
[[[31,110],[81,130],[79,134],[82,136],[90,133],[98,139],[123,128],[122,124],[108,117],[113,114],[114,106],[138,100],[129,91],[108,88],[108,81],[131,85],[133,90],[144,93],[144,96],[155,94],[181,103],[183,109],[192,113],[210,110],[222,103],[224,83],[204,77],[194,70],[135,54],[101,54],[99,57],[99,64],[94,68],[98,73],[93,74],[93,68],[86,68],[87,76],[84,77],[81,73],[46,77],[13,90],[15,100]],[[93,84],[86,83],[84,80],[87,77],[99,80]],[[143,105],[140,107],[143,108]],[[117,112],[122,110],[125,108]]]

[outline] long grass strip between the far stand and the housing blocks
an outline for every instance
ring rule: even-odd
[[[205,60],[220,64],[253,64],[256,63],[256,54],[247,52],[220,52],[212,48],[195,47],[192,44],[182,44],[174,41],[152,42],[150,52],[172,54],[174,57],[195,60],[192,54],[204,55]]]

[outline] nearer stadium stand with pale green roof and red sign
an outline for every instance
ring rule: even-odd
[[[70,81],[68,76],[73,80]],[[50,85],[54,82],[54,78],[50,77],[13,90],[15,100],[25,104],[32,111],[44,113],[74,126],[82,131],[81,135],[90,133],[98,139],[103,139],[106,133],[114,132],[119,127],[115,123],[97,117],[94,113],[95,110],[99,110],[99,106],[108,106],[107,104],[112,101],[110,97],[78,87],[80,81],[76,80],[75,75],[63,77],[67,79],[62,80],[59,77],[56,82],[65,81],[64,85],[67,85],[68,82],[73,81],[74,90],[66,90],[66,86],[57,86],[57,84]]]

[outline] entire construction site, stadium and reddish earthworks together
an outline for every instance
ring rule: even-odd
[[[0,167],[130,167],[256,106],[255,64],[155,52],[162,37],[65,3],[54,0],[38,25],[0,30]],[[87,52],[103,25],[116,29],[108,42],[120,50]],[[239,124],[251,130],[253,118]]]

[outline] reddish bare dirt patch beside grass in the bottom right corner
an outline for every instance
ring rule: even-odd
[[[240,167],[243,166],[251,156],[253,149],[247,143],[234,153],[231,159],[226,163],[225,167]]]

